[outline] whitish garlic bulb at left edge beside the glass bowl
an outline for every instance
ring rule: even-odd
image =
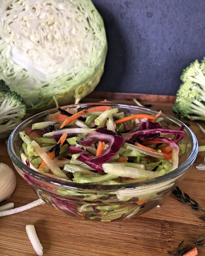
[[[0,202],[8,199],[16,187],[16,175],[7,164],[0,163]]]

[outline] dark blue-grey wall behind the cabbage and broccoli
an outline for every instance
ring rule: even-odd
[[[205,56],[204,0],[93,0],[108,40],[98,91],[175,95],[180,74]]]

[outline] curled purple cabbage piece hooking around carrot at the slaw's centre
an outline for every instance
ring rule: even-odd
[[[105,128],[99,128],[86,134],[85,138],[79,140],[78,143],[83,146],[92,146],[95,141],[104,141],[108,144],[108,148],[100,156],[91,156],[85,161],[87,165],[94,165],[97,170],[101,170],[101,165],[109,161],[117,154],[120,148],[124,145],[125,139],[116,135],[114,132]]]

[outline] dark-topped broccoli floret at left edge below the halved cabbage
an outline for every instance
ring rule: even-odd
[[[25,101],[0,80],[0,138],[7,137],[23,121],[25,114]]]

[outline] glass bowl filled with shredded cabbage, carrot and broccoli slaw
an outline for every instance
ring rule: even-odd
[[[49,205],[110,222],[141,215],[168,197],[196,159],[198,143],[172,116],[106,102],[32,116],[12,132],[8,152]]]

